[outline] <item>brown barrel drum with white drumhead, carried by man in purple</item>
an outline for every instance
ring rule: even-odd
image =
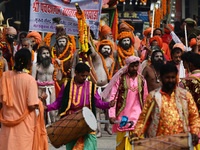
[[[83,107],[47,127],[47,134],[55,148],[67,144],[97,129],[97,121],[92,111]]]

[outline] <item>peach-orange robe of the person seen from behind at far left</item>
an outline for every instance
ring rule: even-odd
[[[9,78],[7,79],[7,76]],[[7,83],[12,83],[9,85],[3,85],[3,80]],[[8,81],[10,80],[10,81]],[[9,86],[9,93],[3,93]],[[27,73],[16,73],[15,71],[4,72],[0,80],[0,102],[3,104],[1,112],[2,129],[0,132],[0,149],[1,150],[32,150],[33,140],[39,138],[34,136],[34,134],[39,135],[43,138],[38,139],[36,142],[36,148],[33,150],[47,150],[47,135],[45,131],[44,119],[43,119],[43,108],[41,108],[40,103],[40,115],[38,116],[40,122],[37,120],[37,127],[43,127],[41,132],[36,132],[36,112],[29,112],[28,106],[36,105],[39,102],[38,99],[38,88],[35,79]],[[4,89],[5,88],[5,89]],[[13,95],[12,101],[13,106],[4,100],[6,94]],[[3,95],[4,94],[4,95]],[[6,96],[8,97],[8,96]],[[11,127],[10,127],[11,126]],[[45,142],[44,142],[45,141]],[[41,147],[42,145],[42,147]]]

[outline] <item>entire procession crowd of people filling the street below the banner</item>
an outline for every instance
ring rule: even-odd
[[[5,28],[0,149],[48,149],[45,125],[83,107],[98,120],[103,112],[113,124],[112,131],[109,124],[104,130],[117,133],[117,150],[132,149],[130,141],[137,138],[187,132],[200,149],[200,29],[191,18],[175,28],[152,29],[140,40],[133,22],[122,21],[115,41],[108,25],[100,26],[99,39],[87,26],[89,50],[83,53],[76,48],[78,37],[67,35],[62,24],[44,39],[36,31]],[[116,123],[122,116],[133,126]],[[95,150],[101,136],[98,122],[96,132],[67,143],[66,149]]]

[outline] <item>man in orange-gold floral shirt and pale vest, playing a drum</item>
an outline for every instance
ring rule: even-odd
[[[177,87],[177,73],[176,66],[170,62],[161,67],[163,85],[147,96],[130,138],[140,137],[143,133],[145,137],[153,138],[190,131],[193,145],[197,145],[200,127],[198,109],[192,95]]]

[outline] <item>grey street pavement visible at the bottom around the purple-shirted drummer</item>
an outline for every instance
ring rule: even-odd
[[[104,127],[104,125],[102,125]],[[97,150],[115,150],[116,146],[116,134],[109,135],[107,132],[103,131],[102,128],[102,137],[97,138]],[[49,144],[49,150],[66,150],[65,146],[60,148],[54,148],[51,144]]]

